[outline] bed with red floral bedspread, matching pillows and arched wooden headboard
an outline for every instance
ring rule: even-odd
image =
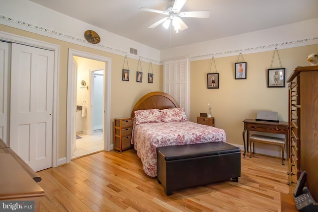
[[[145,173],[157,176],[157,147],[204,142],[226,142],[223,129],[188,121],[183,108],[164,92],[151,92],[135,104],[131,143]]]

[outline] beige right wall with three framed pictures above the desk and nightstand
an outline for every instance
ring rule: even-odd
[[[318,45],[278,50],[282,67],[286,68],[286,79],[297,66],[310,66],[306,57],[314,52],[318,52]],[[210,103],[216,127],[226,131],[227,142],[239,145],[243,145],[242,121],[256,118],[259,110],[277,111],[280,121],[288,121],[288,84],[285,88],[267,88],[267,69],[273,53],[242,53],[247,62],[246,79],[235,79],[234,67],[239,53],[238,56],[216,58],[219,89],[207,89],[211,60],[191,62],[190,121],[196,122],[200,113],[208,113],[207,103]],[[211,72],[215,71],[213,66]],[[272,68],[280,68],[277,53]]]

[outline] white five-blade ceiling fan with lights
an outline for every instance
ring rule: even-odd
[[[163,27],[166,29],[169,28],[170,23],[172,21],[172,26],[174,30],[178,33],[179,30],[185,30],[188,26],[182,21],[182,17],[190,17],[190,18],[208,18],[210,16],[210,11],[188,11],[181,12],[180,9],[183,7],[187,0],[174,0],[172,6],[168,6],[165,11],[151,9],[146,7],[141,7],[140,10],[148,11],[148,12],[156,12],[164,15],[168,15],[168,17],[164,17],[157,21],[156,23],[150,25],[148,28],[155,28],[159,24],[163,23]]]

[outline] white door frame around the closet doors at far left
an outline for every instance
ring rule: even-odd
[[[17,43],[22,44],[26,46],[46,49],[54,52],[54,68],[53,68],[53,117],[52,117],[52,167],[57,167],[59,165],[59,158],[58,158],[58,149],[59,149],[59,143],[58,141],[58,135],[59,135],[59,129],[58,129],[58,123],[59,123],[59,66],[58,61],[60,61],[60,46],[47,43],[44,41],[35,40],[32,38],[22,37],[19,35],[11,34],[8,32],[2,32],[0,31],[0,40],[4,42],[9,43]],[[10,138],[9,138],[10,139]]]

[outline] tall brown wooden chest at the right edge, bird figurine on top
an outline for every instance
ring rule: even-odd
[[[297,67],[289,82],[289,185],[294,192],[301,171],[318,201],[318,66]]]

